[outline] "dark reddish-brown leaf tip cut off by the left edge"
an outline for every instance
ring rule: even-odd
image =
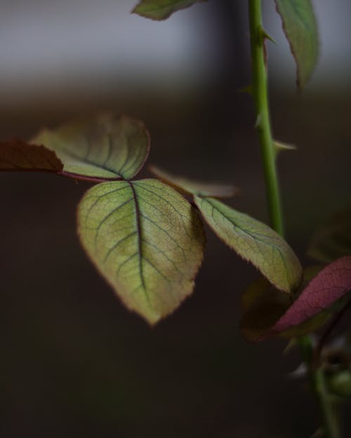
[[[21,139],[0,142],[0,170],[37,170],[60,172],[62,162],[55,152],[44,146],[29,144]]]

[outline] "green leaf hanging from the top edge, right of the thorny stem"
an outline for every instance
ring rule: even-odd
[[[311,0],[275,0],[283,29],[297,65],[297,84],[302,89],[317,63],[317,20]]]

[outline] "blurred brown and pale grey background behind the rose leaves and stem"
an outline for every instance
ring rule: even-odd
[[[0,0],[0,135],[100,110],[145,121],[149,163],[231,182],[267,221],[253,130],[247,1],[209,0],[166,22],[136,0]],[[314,1],[321,55],[296,95],[295,66],[265,6],[286,234],[305,264],[314,228],[350,200],[351,4]],[[147,172],[145,172],[147,174]],[[154,329],[128,313],[75,233],[89,185],[0,174],[0,435],[6,438],[300,438],[317,425],[298,355],[246,343],[239,296],[256,271],[207,231],[197,287]],[[350,405],[348,406],[350,409]],[[345,436],[350,436],[350,424]]]

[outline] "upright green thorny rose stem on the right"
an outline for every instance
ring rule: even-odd
[[[249,0],[249,21],[252,56],[252,88],[256,104],[256,128],[260,139],[265,172],[267,205],[272,228],[283,235],[282,206],[279,195],[279,181],[276,167],[276,150],[272,138],[270,109],[268,104],[267,69],[265,62],[265,39],[263,29],[261,0]],[[300,353],[308,369],[310,386],[317,399],[323,419],[326,438],[339,438],[338,424],[333,411],[331,399],[326,389],[324,370],[313,366],[313,349],[310,336],[298,338]]]

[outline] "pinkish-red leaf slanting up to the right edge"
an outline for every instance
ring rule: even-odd
[[[331,306],[351,289],[351,256],[342,257],[326,266],[303,289],[298,299],[277,320],[266,336],[279,334],[305,322]]]

